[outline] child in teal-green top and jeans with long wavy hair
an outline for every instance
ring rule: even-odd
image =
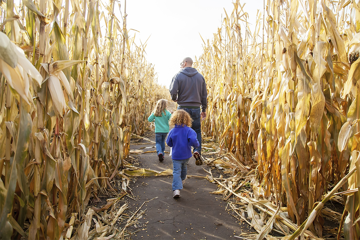
[[[154,111],[148,118],[149,122],[155,121],[155,145],[160,162],[164,160],[165,138],[169,132],[169,119],[171,117],[171,113],[166,110],[166,107],[166,99],[158,100]]]

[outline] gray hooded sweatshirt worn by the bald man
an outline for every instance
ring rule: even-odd
[[[181,107],[201,107],[206,112],[207,90],[204,77],[192,67],[182,68],[172,78],[170,94],[173,101]]]

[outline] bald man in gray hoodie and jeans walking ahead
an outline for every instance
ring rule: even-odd
[[[179,105],[177,109],[188,112],[193,119],[191,127],[197,134],[200,146],[194,148],[193,156],[196,165],[202,165],[201,160],[201,120],[206,118],[207,89],[204,77],[192,67],[193,60],[184,58],[181,69],[170,83],[171,99]],[[201,108],[200,108],[201,106]]]

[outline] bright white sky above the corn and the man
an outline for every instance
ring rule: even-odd
[[[236,1],[236,0],[234,0]],[[244,11],[249,14],[248,21],[256,22],[257,9],[263,10],[264,0],[240,0],[246,3]],[[127,0],[127,29],[135,43],[147,41],[146,58],[154,64],[158,83],[169,87],[172,77],[180,70],[185,57],[195,60],[202,54],[203,41],[212,39],[217,27],[221,26],[226,12],[234,9],[233,0]],[[124,4],[121,1],[121,12]],[[254,24],[250,27],[253,32]],[[245,29],[245,28],[242,28]]]

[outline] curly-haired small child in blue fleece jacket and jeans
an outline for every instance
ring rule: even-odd
[[[196,132],[191,128],[192,119],[189,113],[176,110],[170,119],[170,124],[174,128],[169,132],[166,143],[172,147],[172,191],[174,198],[178,198],[187,178],[188,162],[192,157],[191,146],[197,148],[200,144]]]

